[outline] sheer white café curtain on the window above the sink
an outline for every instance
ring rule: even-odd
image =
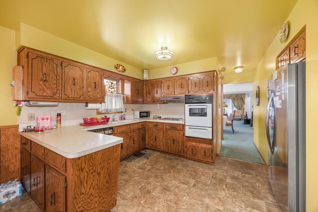
[[[105,95],[105,103],[101,104],[102,113],[116,113],[124,111],[123,94],[107,93]]]

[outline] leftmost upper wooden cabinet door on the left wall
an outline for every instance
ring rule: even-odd
[[[59,99],[61,61],[46,55],[28,53],[28,98]]]

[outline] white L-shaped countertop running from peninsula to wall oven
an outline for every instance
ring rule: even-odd
[[[184,124],[184,122],[164,121],[149,118],[109,122],[105,125],[88,127],[80,125],[63,126],[61,128],[45,130],[44,133],[19,132],[19,134],[66,158],[77,158],[123,142],[123,139],[120,137],[87,132],[88,130],[115,127],[143,121]]]

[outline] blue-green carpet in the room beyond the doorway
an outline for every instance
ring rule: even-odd
[[[233,127],[235,133],[231,126],[224,127],[220,156],[264,164],[253,143],[253,129],[243,120],[234,120]]]

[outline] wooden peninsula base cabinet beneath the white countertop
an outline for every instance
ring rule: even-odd
[[[110,211],[116,205],[120,144],[65,158],[22,136],[20,142],[22,185],[42,211]]]

